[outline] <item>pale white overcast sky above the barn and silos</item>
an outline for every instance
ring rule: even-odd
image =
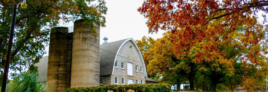
[[[153,39],[161,38],[164,33],[160,30],[157,34],[148,34],[146,18],[139,14],[137,9],[144,0],[105,0],[108,8],[106,17],[106,27],[100,28],[100,44],[103,43],[103,37],[108,37],[108,43],[122,39],[133,38],[141,40],[143,36]],[[73,22],[59,24],[59,26],[73,26]],[[48,46],[46,54],[48,55]]]

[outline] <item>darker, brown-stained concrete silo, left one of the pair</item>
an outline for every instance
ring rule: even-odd
[[[46,85],[49,92],[63,92],[71,83],[73,38],[63,32],[68,33],[68,28],[56,27],[50,32]]]

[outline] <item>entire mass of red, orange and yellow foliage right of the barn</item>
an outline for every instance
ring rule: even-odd
[[[226,81],[234,84],[238,76],[251,82],[257,76],[262,80],[268,70],[268,31],[266,16],[258,21],[257,13],[268,12],[267,6],[264,0],[144,1],[138,11],[148,19],[149,32],[167,31],[152,45],[148,73],[199,74],[203,77],[199,79],[210,80],[210,91]],[[248,82],[236,83],[245,88],[257,85],[246,86]]]

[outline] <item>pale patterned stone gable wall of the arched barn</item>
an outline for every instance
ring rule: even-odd
[[[127,80],[131,79],[133,80],[133,83],[136,83],[136,79],[139,80],[139,83],[141,83],[141,80],[143,80],[143,83],[145,84],[145,77],[146,77],[146,71],[144,64],[141,63],[141,58],[139,57],[139,51],[137,48],[135,48],[135,45],[131,41],[127,41],[124,43],[124,45],[121,47],[118,55],[123,56],[117,56],[116,60],[118,61],[118,68],[114,68],[114,74],[111,75],[111,84],[114,84],[114,77],[118,77],[118,85],[121,85],[121,78],[125,78],[125,83],[127,84]],[[124,57],[127,57],[129,59],[126,59]],[[135,61],[133,61],[135,60]],[[124,68],[121,68],[121,62],[124,62]],[[133,63],[133,76],[127,75],[127,62]],[[138,65],[138,71],[135,71],[135,65]],[[140,66],[143,67],[143,71],[140,72]]]

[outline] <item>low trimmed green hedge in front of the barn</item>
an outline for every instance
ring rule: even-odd
[[[131,85],[105,85],[94,87],[78,87],[69,88],[64,92],[107,92],[112,90],[114,92],[127,92],[132,89],[135,92],[170,92],[171,86],[169,84],[157,83],[157,84],[131,84]]]

